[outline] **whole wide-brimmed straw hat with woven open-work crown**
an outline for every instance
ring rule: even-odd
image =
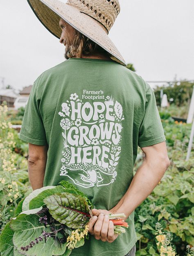
[[[59,20],[62,18],[72,27],[100,45],[111,54],[111,59],[126,63],[108,36],[120,13],[119,0],[27,0],[41,23],[57,38],[61,36]]]

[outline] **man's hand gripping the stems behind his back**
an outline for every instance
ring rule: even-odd
[[[92,209],[93,217],[88,222],[88,231],[91,235],[95,236],[97,240],[103,242],[113,242],[118,234],[114,233],[114,224],[109,220],[108,214],[112,211]]]

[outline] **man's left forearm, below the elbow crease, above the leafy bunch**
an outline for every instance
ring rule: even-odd
[[[45,168],[46,159],[39,159],[35,162],[28,160],[29,181],[33,190],[43,187]]]

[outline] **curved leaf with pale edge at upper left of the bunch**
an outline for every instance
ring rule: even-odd
[[[43,206],[43,199],[54,193],[62,193],[65,189],[62,186],[46,186],[38,188],[27,196],[23,202],[22,211],[31,210]]]

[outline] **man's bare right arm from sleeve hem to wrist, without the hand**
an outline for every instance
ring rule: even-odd
[[[170,165],[165,141],[141,149],[145,159],[125,195],[111,212],[125,213],[128,217],[151,194]]]

